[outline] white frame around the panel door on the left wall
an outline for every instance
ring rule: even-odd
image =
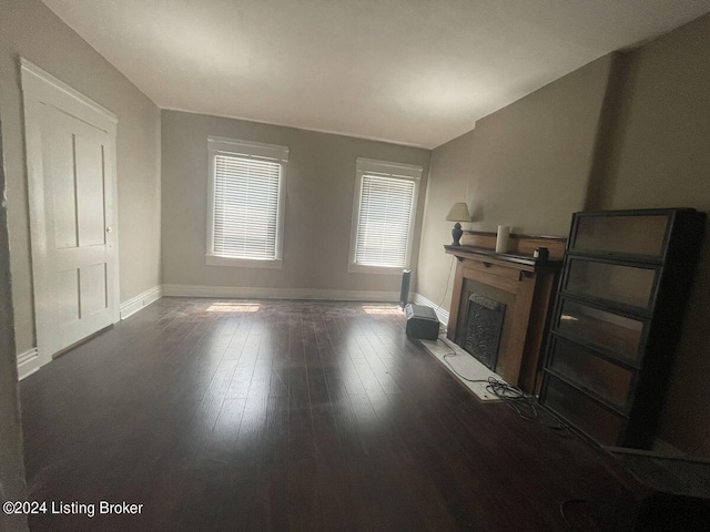
[[[109,174],[108,186],[112,193],[112,219],[106,224],[114,228],[113,247],[115,265],[112,268],[113,289],[112,323],[120,320],[120,289],[119,289],[119,213],[118,213],[118,182],[116,182],[116,127],[118,117],[111,111],[84,96],[67,83],[39,66],[20,59],[22,80],[22,96],[24,108],[24,141],[28,175],[28,204],[30,215],[30,245],[32,252],[32,287],[34,293],[34,331],[38,349],[38,368],[50,362],[55,348],[52,320],[57,317],[52,313],[53,288],[48,286],[45,275],[47,265],[47,227],[44,217],[44,176],[42,168],[42,141],[39,117],[40,105],[51,105],[75,119],[90,124],[109,135]],[[60,348],[61,349],[61,348]]]

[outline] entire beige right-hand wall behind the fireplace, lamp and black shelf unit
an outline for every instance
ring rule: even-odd
[[[590,63],[434,150],[417,291],[440,300],[449,265],[440,245],[450,225],[442,218],[466,188],[476,213],[470,226],[483,231],[505,224],[566,235],[571,213],[582,207],[710,212],[709,57],[706,16],[635,52]],[[709,294],[710,236],[659,433],[702,457],[710,457]]]

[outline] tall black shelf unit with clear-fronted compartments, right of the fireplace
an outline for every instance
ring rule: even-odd
[[[539,400],[601,444],[652,443],[704,219],[692,208],[572,216]]]

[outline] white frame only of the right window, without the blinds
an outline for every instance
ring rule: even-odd
[[[412,248],[414,245],[414,229],[416,227],[416,214],[419,198],[419,185],[424,168],[414,164],[393,163],[388,161],[376,161],[373,158],[357,157],[355,197],[353,201],[353,219],[351,224],[351,248],[347,264],[348,273],[400,275],[403,269],[412,266]],[[404,266],[369,266],[357,264],[357,235],[359,232],[359,213],[363,198],[363,177],[368,175],[379,175],[382,177],[410,181],[414,183],[412,196],[412,211],[409,214],[409,227],[407,232],[407,248],[405,250]]]

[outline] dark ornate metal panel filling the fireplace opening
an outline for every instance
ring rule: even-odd
[[[506,305],[480,294],[468,296],[464,345],[488,369],[496,369]]]

